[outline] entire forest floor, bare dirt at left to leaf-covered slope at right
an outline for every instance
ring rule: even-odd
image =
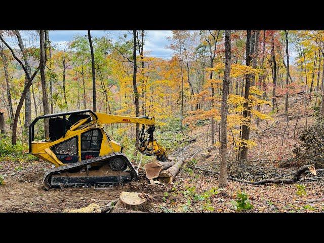
[[[287,124],[284,115],[284,98],[278,98],[279,112],[272,114],[273,121],[262,122],[260,128],[265,130],[259,136],[255,131],[251,133],[257,146],[249,150],[249,166],[254,168],[269,168],[272,174],[260,174],[257,179],[271,175],[289,174],[297,167],[285,167],[285,159],[293,157],[294,144],[299,144],[298,135],[306,125],[305,116],[299,118],[294,136],[294,127],[301,110],[296,95],[289,100],[292,120],[289,121],[284,144],[281,146],[282,133]],[[312,106],[312,101],[309,106]],[[264,106],[265,112],[271,111],[271,106]],[[309,108],[311,114],[311,108]],[[307,126],[313,124],[314,118],[307,116]],[[5,175],[4,186],[0,186],[0,212],[63,212],[78,209],[96,203],[104,206],[110,200],[119,197],[121,191],[145,192],[153,195],[154,212],[235,212],[232,201],[237,199],[237,192],[244,191],[249,195],[253,209],[247,212],[324,212],[324,201],[311,203],[309,199],[324,198],[324,182],[322,180],[302,180],[298,184],[265,184],[251,185],[235,181],[228,181],[224,189],[219,189],[217,174],[201,171],[217,170],[219,167],[218,148],[207,151],[208,125],[197,127],[188,134],[197,139],[182,150],[182,156],[195,158],[195,167],[190,169],[187,163],[171,185],[150,185],[145,179],[144,170],[140,169],[140,180],[104,190],[98,189],[51,189],[45,191],[42,180],[45,171],[51,166],[44,161],[21,163],[19,161],[3,161],[0,174]],[[218,139],[218,136],[217,136]],[[210,144],[210,142],[209,142]],[[210,145],[209,145],[210,146]],[[232,149],[228,149],[232,151]],[[17,170],[17,167],[21,166]],[[301,186],[302,185],[302,186]]]

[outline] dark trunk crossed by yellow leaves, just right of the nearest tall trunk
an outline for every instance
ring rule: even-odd
[[[251,45],[251,30],[247,30],[247,44],[246,44],[246,65],[250,66],[251,62],[251,50],[254,50],[254,47]],[[246,99],[245,103],[243,104],[243,117],[247,119],[248,125],[242,125],[242,134],[241,139],[244,140],[243,146],[240,150],[240,160],[246,160],[248,157],[248,147],[245,140],[250,139],[250,124],[251,124],[251,107],[249,106],[249,96],[250,96],[250,85],[251,85],[251,74],[246,74],[246,82],[245,82],[245,92],[244,98]]]

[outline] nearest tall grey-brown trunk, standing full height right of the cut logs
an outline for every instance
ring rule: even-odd
[[[223,188],[227,184],[227,97],[228,87],[230,84],[229,74],[231,68],[231,31],[225,30],[225,70],[222,92],[222,105],[221,105],[221,122],[220,122],[220,176],[219,187]]]

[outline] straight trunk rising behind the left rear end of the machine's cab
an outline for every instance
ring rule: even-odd
[[[47,97],[47,87],[45,78],[45,64],[46,64],[46,42],[44,41],[45,30],[39,30],[39,51],[40,51],[40,72],[41,72],[41,82],[42,82],[42,92],[43,92],[43,111],[44,115],[49,114],[49,103]],[[44,120],[44,131],[45,139],[49,138],[49,119]]]

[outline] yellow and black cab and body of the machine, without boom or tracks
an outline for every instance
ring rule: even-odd
[[[90,114],[86,114],[88,112]],[[61,166],[97,157],[113,149],[120,151],[121,146],[110,140],[101,127],[88,126],[92,117],[96,118],[96,114],[91,110],[36,117],[29,126],[29,153],[48,160],[56,166]],[[49,139],[34,141],[34,125],[37,120],[47,118],[49,119]]]

